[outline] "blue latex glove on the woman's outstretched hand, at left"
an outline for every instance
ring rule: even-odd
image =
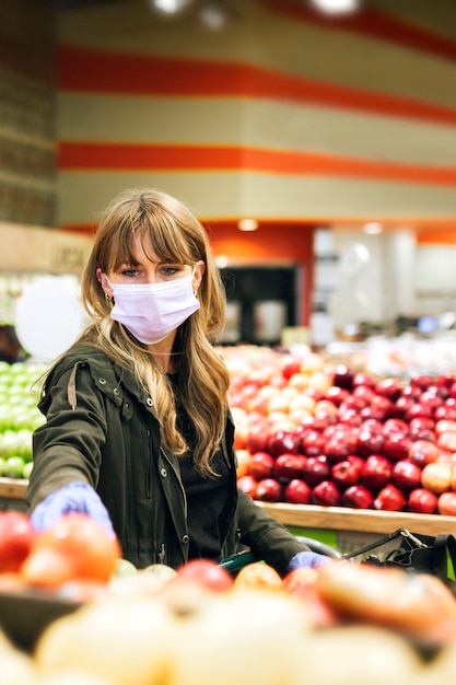
[[[32,525],[38,533],[71,512],[87,514],[114,537],[113,523],[100,496],[86,483],[70,483],[48,495],[31,513]]]

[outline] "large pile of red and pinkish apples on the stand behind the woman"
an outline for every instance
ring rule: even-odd
[[[456,373],[375,379],[236,349],[238,485],[254,499],[456,515]]]

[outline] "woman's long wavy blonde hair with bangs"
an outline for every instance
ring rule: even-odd
[[[110,317],[109,302],[96,270],[109,274],[121,264],[135,264],[133,241],[151,245],[165,263],[206,270],[198,289],[200,307],[178,328],[173,359],[177,382],[173,386],[152,353],[122,324]],[[82,303],[91,324],[75,346],[87,342],[130,369],[150,393],[161,423],[162,443],[172,454],[188,453],[176,427],[176,399],[196,430],[194,462],[201,474],[213,475],[211,456],[224,433],[230,383],[217,342],[225,324],[225,290],[214,263],[206,230],[180,201],[151,188],[121,193],[103,213],[81,283]]]

